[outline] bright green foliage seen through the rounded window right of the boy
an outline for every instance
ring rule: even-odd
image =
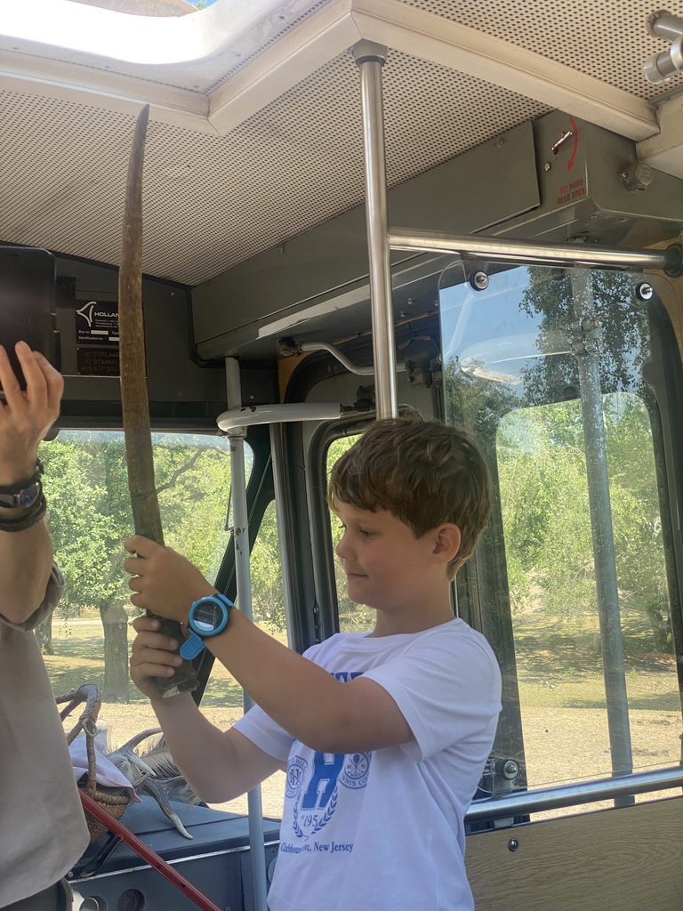
[[[635,395],[607,395],[605,424],[622,610],[645,615],[662,648],[668,599],[647,409]],[[513,604],[535,588],[548,614],[574,625],[596,609],[580,429],[578,402],[519,410],[502,421],[497,448]]]

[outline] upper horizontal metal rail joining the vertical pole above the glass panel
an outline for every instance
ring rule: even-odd
[[[481,234],[446,234],[409,228],[390,228],[392,250],[454,253],[485,258],[494,262],[534,262],[545,265],[605,266],[612,269],[663,270],[668,275],[681,273],[681,248],[671,244],[666,250],[617,250],[593,244],[546,241],[512,241]]]

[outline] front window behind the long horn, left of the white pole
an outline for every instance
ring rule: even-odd
[[[155,433],[156,483],[166,544],[213,581],[227,545],[229,442],[218,435]],[[123,434],[61,430],[40,448],[49,527],[66,590],[37,636],[53,690],[85,683],[102,692],[100,722],[112,747],[156,727],[128,678],[138,614],[128,599],[122,541],[132,534]]]

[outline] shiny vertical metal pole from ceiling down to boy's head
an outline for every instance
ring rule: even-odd
[[[396,417],[396,345],[393,337],[392,271],[386,201],[386,156],[382,67],[387,49],[359,41],[353,58],[361,74],[362,135],[365,159],[365,220],[370,258],[372,353],[378,417]]]

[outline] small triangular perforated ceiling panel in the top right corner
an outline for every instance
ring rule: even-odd
[[[666,50],[668,42],[647,34],[647,16],[658,10],[653,0],[402,0],[486,35],[572,67],[639,98],[660,87],[642,72],[647,57]],[[683,15],[680,3],[666,4]],[[680,87],[683,77],[668,84]]]

